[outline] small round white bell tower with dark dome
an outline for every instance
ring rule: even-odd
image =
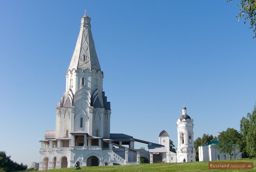
[[[177,161],[195,161],[196,149],[194,147],[193,119],[186,114],[186,107],[182,108],[182,115],[176,121],[178,130]]]

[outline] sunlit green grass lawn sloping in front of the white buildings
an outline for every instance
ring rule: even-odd
[[[249,160],[221,160],[218,162],[253,162],[254,170],[256,170],[256,158]],[[139,165],[120,165],[120,166],[98,166],[98,167],[82,167],[81,170],[76,168],[61,168],[54,170],[47,170],[50,172],[154,172],[154,171],[182,171],[182,172],[195,172],[195,171],[212,171],[212,172],[236,172],[236,171],[254,171],[254,170],[208,170],[207,162],[185,162],[185,163],[156,163],[156,164],[139,164]]]

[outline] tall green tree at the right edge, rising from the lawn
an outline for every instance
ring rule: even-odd
[[[256,104],[252,113],[247,113],[240,121],[240,131],[243,134],[244,152],[250,159],[256,156]]]

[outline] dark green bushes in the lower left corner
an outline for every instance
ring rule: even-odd
[[[6,156],[6,152],[0,151],[0,172],[1,170],[6,172],[15,172],[27,169],[27,165],[13,162],[10,158],[11,156]]]

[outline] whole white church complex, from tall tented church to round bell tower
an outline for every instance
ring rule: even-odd
[[[66,72],[66,91],[56,109],[54,131],[45,131],[41,140],[39,170],[83,166],[195,161],[193,119],[186,107],[177,119],[177,154],[170,152],[169,135],[162,131],[159,143],[151,143],[122,133],[110,133],[111,106],[103,92],[100,68],[91,33],[90,18],[81,18],[80,33]],[[145,143],[148,151],[135,149]]]

